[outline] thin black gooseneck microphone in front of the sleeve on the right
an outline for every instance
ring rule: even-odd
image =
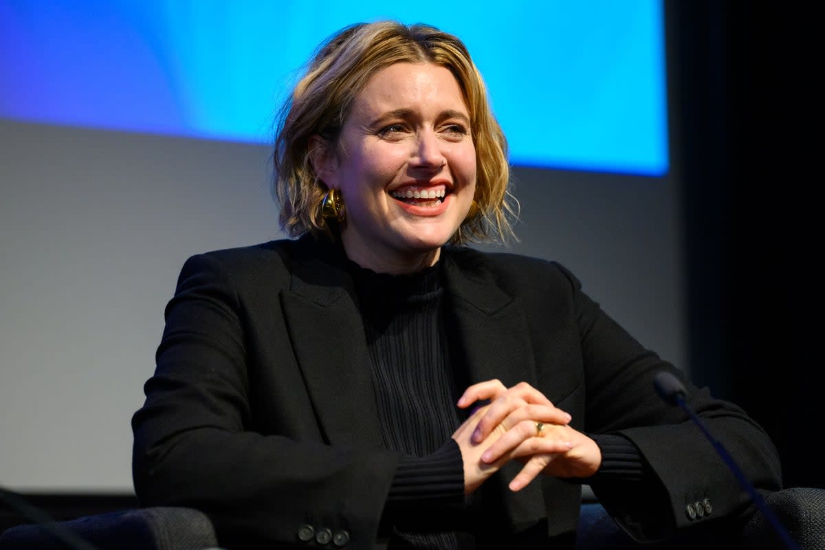
[[[762,496],[757,492],[756,487],[753,487],[753,484],[747,480],[745,474],[742,472],[742,469],[739,468],[738,464],[733,457],[728,454],[728,449],[724,448],[724,445],[716,440],[713,435],[710,435],[705,423],[701,421],[699,416],[691,409],[691,407],[687,406],[685,402],[685,397],[687,396],[687,390],[685,385],[681,383],[679,378],[676,378],[673,374],[662,370],[655,377],[653,377],[653,387],[656,388],[656,392],[659,394],[659,397],[662,397],[662,400],[666,402],[668,405],[673,405],[675,407],[680,407],[691,417],[691,421],[701,430],[702,434],[705,435],[705,439],[713,445],[717,454],[722,457],[725,465],[728,469],[733,472],[733,475],[736,476],[739,485],[748,492],[751,496],[752,501],[757,505],[759,510],[768,521],[771,522],[771,525],[775,529],[776,533],[779,534],[782,541],[785,543],[785,547],[789,548],[790,550],[801,550],[799,548],[799,544],[794,542],[794,539],[790,537],[788,531],[785,527],[782,526],[780,523],[779,518],[776,517],[773,510],[767,505],[766,501]]]

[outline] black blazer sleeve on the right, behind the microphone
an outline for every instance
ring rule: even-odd
[[[572,308],[586,380],[586,431],[624,435],[649,467],[645,486],[597,482],[593,491],[634,538],[667,538],[674,529],[718,524],[749,510],[750,497],[700,429],[679,407],[662,402],[653,378],[667,370],[687,388],[686,403],[759,491],[781,486],[780,461],[766,432],[733,403],[696,388],[685,374],[645,349],[559,266],[572,289]],[[700,510],[701,508],[701,510]]]

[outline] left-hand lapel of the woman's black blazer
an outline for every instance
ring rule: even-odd
[[[317,250],[316,250],[317,252]],[[382,444],[361,315],[333,255],[299,255],[281,293],[290,339],[323,436],[330,444]]]

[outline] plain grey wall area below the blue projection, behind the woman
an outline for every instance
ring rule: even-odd
[[[0,485],[131,491],[187,256],[280,236],[265,146],[0,120]],[[673,181],[517,169],[521,242],[686,367]]]

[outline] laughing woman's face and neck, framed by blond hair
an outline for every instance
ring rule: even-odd
[[[458,82],[431,63],[375,73],[323,155],[323,181],[341,190],[347,256],[377,272],[433,265],[475,192],[475,146]]]

